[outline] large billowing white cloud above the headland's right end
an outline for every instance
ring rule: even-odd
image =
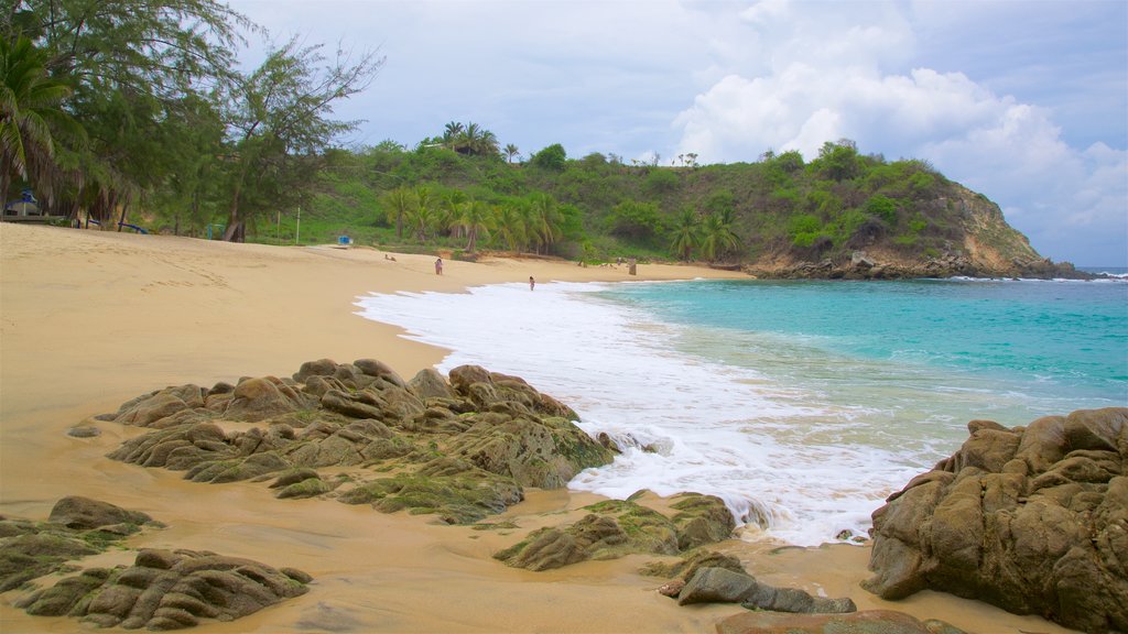
[[[676,153],[731,162],[797,149],[810,159],[823,142],[848,138],[863,152],[927,159],[996,200],[1043,255],[1128,258],[1125,151],[1073,148],[1050,109],[995,95],[962,72],[884,70],[884,53],[911,50],[909,23],[888,10],[828,18],[823,8],[769,1],[744,11],[757,34],[772,29],[764,54],[773,64],[702,91],[673,122]]]

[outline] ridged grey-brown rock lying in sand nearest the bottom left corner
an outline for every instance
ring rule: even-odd
[[[98,627],[182,629],[229,622],[307,592],[297,570],[209,552],[141,551],[129,567],[94,567],[21,599],[35,616],[71,616]]]

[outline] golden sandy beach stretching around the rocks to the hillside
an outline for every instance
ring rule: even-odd
[[[209,549],[292,566],[310,592],[204,632],[712,632],[739,606],[677,604],[637,574],[653,556],[585,562],[534,573],[491,555],[540,526],[576,519],[594,497],[531,491],[503,519],[517,531],[429,523],[333,501],[275,500],[264,485],[194,484],[182,474],[111,460],[141,430],[94,422],[102,435],[67,430],[140,394],[211,386],[243,376],[288,377],[305,361],[378,359],[409,378],[444,351],[354,315],[369,292],[460,292],[527,281],[743,278],[703,267],[579,267],[544,259],[434,257],[356,247],[275,247],[167,236],[0,224],[0,514],[45,519],[64,495],[144,511],[168,527],[130,548]],[[452,318],[455,316],[451,316]],[[1033,616],[935,592],[889,602],[865,592],[869,549],[787,548],[731,540],[757,578],[860,609],[942,618],[969,632],[1067,632]],[[111,551],[83,565],[127,563]],[[30,617],[0,596],[0,631],[71,632],[73,620]]]

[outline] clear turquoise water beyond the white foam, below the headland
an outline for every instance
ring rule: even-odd
[[[1029,402],[1014,404],[1017,415],[1128,405],[1123,282],[724,281],[625,284],[603,296],[663,320],[729,331],[714,334],[721,349],[706,350],[728,362],[740,363],[750,350],[764,361],[770,351],[758,349],[775,343],[788,356],[783,366],[802,364],[793,349],[800,345],[816,353],[809,360],[818,366],[838,358],[841,372],[855,371],[846,362],[855,360],[885,373],[904,371],[906,379],[926,372],[949,387],[1020,391]],[[796,380],[835,376],[810,366],[774,371]]]

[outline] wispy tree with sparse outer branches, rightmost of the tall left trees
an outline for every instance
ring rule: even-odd
[[[318,69],[325,61],[319,50],[300,49],[291,39],[244,78],[232,96],[226,240],[241,241],[247,221],[263,212],[300,204],[312,191],[318,152],[356,125],[329,120],[333,103],[363,90],[384,59],[367,53],[353,63],[338,52]]]

